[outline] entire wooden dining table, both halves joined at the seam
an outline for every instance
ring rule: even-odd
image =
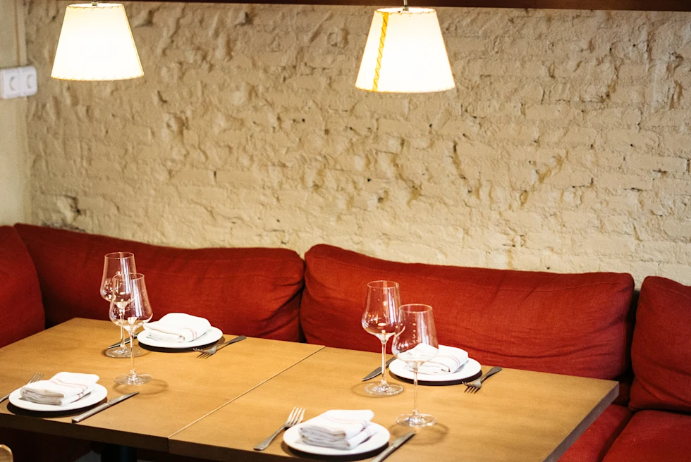
[[[412,409],[412,385],[393,397],[372,397],[360,381],[379,364],[379,354],[252,338],[206,360],[145,350],[135,366],[154,380],[125,387],[112,377],[129,370],[129,359],[103,354],[118,335],[107,321],[73,319],[0,349],[0,390],[24,385],[35,371],[51,377],[68,370],[98,374],[109,399],[140,392],[79,424],[71,423],[74,413],[48,417],[8,409],[6,401],[0,427],[217,461],[300,458],[280,438],[266,451],[252,449],[293,406],[307,409],[305,419],[332,408],[369,408],[392,438],[409,430],[395,420]],[[420,387],[420,411],[438,423],[389,460],[556,461],[611,404],[618,384],[505,369],[477,394],[464,390]]]

